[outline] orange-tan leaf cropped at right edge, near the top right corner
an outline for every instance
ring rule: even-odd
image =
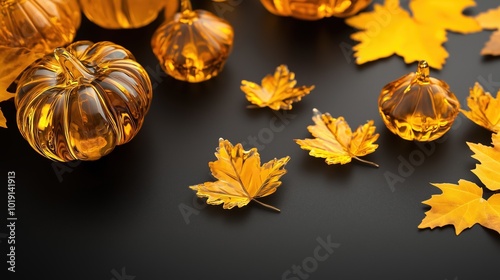
[[[483,29],[496,30],[481,50],[482,55],[500,55],[500,6],[480,13],[476,17]]]

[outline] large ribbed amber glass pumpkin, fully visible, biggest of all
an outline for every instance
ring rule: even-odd
[[[149,76],[128,50],[79,41],[23,72],[17,125],[47,158],[97,160],[137,134],[151,99]]]

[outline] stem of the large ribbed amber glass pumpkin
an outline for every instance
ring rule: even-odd
[[[91,80],[93,74],[85,67],[78,58],[64,48],[56,48],[54,56],[63,69],[69,82],[77,82],[80,79]]]

